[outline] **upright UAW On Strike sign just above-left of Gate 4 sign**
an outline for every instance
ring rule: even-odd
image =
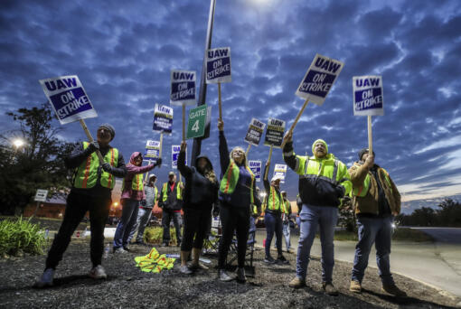
[[[171,105],[195,104],[195,75],[194,70],[171,70]]]

